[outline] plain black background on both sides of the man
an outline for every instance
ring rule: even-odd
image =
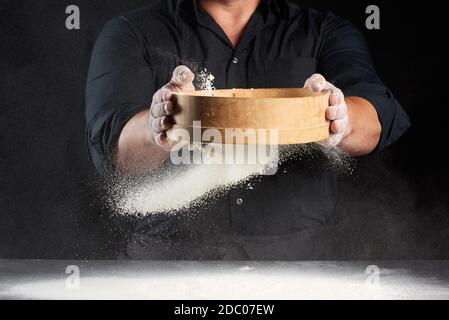
[[[0,258],[114,258],[130,221],[111,217],[84,144],[84,87],[101,27],[146,0],[0,0]],[[449,258],[446,66],[440,2],[303,1],[365,34],[413,127],[340,177],[338,219],[305,259]],[[65,8],[81,30],[65,28]],[[365,28],[365,8],[381,30]]]

